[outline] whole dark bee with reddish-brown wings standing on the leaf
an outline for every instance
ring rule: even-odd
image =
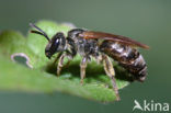
[[[58,60],[57,75],[60,75],[65,57],[70,61],[79,54],[82,58],[80,63],[80,83],[83,84],[87,64],[94,58],[98,63],[103,64],[106,75],[111,78],[116,100],[119,100],[119,94],[115,81],[115,70],[111,59],[117,61],[118,65],[132,74],[134,80],[145,81],[147,66],[144,57],[137,50],[137,47],[148,49],[149,46],[145,44],[121,35],[82,29],[72,29],[68,32],[67,36],[58,32],[49,38],[39,27],[33,23],[30,25],[36,29],[36,31],[32,30],[31,33],[43,35],[48,41],[45,48],[47,58],[50,59],[54,54],[58,53],[56,58]]]

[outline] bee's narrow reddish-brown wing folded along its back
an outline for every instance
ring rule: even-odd
[[[93,31],[87,31],[80,34],[79,36],[83,38],[102,38],[102,39],[111,39],[114,42],[118,42],[122,44],[135,46],[135,47],[141,47],[148,49],[149,46],[141,44],[139,42],[136,42],[129,37],[121,36],[121,35],[115,35],[115,34],[110,34],[110,33],[103,33],[103,32],[93,32]]]

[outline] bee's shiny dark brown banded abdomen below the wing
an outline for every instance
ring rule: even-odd
[[[118,64],[128,70],[136,80],[145,80],[147,66],[142,56],[136,48],[112,41],[104,41],[100,46],[100,50],[118,61]]]

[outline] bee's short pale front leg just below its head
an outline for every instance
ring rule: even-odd
[[[66,57],[66,54],[62,54],[60,57],[59,57],[59,63],[57,65],[57,76],[60,75],[60,71],[64,67],[64,58]]]

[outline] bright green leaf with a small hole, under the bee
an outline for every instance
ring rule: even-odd
[[[52,21],[39,21],[36,25],[49,37],[57,32],[67,34],[72,29]],[[20,32],[14,31],[0,33],[0,89],[45,93],[60,91],[101,102],[115,100],[110,78],[105,75],[102,65],[95,61],[88,65],[83,86],[80,84],[79,56],[64,68],[60,77],[57,78],[56,66],[52,65],[54,59],[49,60],[45,57],[46,44],[47,41],[36,34],[29,33],[24,37]],[[23,58],[25,65],[31,65],[27,67],[33,67],[33,69],[14,64],[11,58],[14,60]],[[126,74],[116,74],[117,77],[122,75]],[[118,89],[129,84],[128,80],[117,78],[116,83]]]

